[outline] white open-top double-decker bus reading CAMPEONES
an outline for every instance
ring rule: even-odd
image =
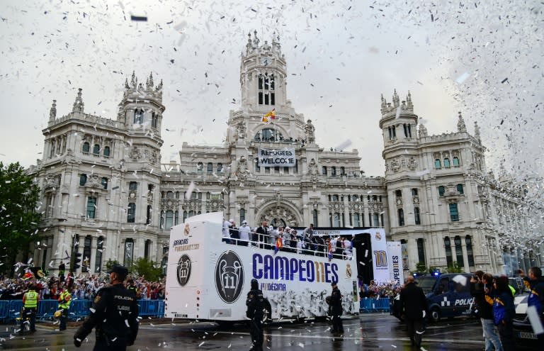
[[[234,322],[246,319],[246,294],[257,279],[268,320],[327,316],[325,298],[336,282],[344,315],[359,313],[353,258],[222,242],[223,214],[205,213],[171,228],[165,317]],[[266,246],[265,246],[266,247]]]

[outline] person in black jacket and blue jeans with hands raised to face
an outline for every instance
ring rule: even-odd
[[[476,271],[470,279],[470,295],[474,297],[474,311],[480,318],[485,339],[485,351],[502,351],[502,344],[497,328],[493,323],[493,307],[485,299],[486,291],[492,295],[493,276],[489,273]]]

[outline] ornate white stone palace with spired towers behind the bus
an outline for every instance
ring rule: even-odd
[[[357,150],[320,147],[312,121],[291,106],[279,38],[261,44],[249,35],[240,84],[225,145],[183,143],[169,164],[160,162],[162,82],[155,87],[152,75],[145,85],[135,74],[125,82],[115,120],[84,113],[81,89],[67,116],[57,118],[54,101],[43,159],[29,170],[42,189],[35,262],[55,272],[80,252],[90,273],[106,260],[164,263],[172,225],[223,211],[250,225],[385,227],[388,240],[402,240],[411,270],[456,261],[502,272],[501,255],[489,252],[502,250],[498,234],[484,225],[492,215],[480,177],[485,147],[461,116],[458,133],[429,136],[410,94],[402,103],[396,91],[392,104],[382,97],[385,177],[366,177]],[[289,163],[267,166],[262,156],[278,150]]]

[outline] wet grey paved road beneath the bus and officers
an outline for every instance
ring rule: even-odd
[[[57,325],[40,323],[33,335],[16,336],[9,326],[0,326],[0,350],[74,350],[75,328],[62,333]],[[325,321],[275,323],[265,330],[265,350],[412,350],[404,324],[388,314],[364,314],[344,320],[345,335],[332,338]],[[480,323],[475,319],[444,320],[429,325],[424,334],[424,350],[482,350]],[[144,320],[136,345],[128,350],[248,350],[251,344],[244,325],[230,328],[215,323],[179,323],[154,325]],[[92,350],[94,334],[79,350]]]

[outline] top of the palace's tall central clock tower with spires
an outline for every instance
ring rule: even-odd
[[[242,52],[240,85],[242,108],[252,111],[283,110],[286,97],[285,57],[281,53],[279,36],[274,35],[271,45],[261,45],[257,32],[248,34],[246,52]]]

